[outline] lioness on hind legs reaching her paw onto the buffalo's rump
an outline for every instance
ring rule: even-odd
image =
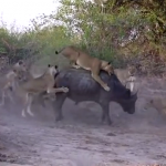
[[[22,83],[19,87],[18,94],[23,98],[23,110],[22,110],[22,116],[25,117],[25,111],[31,116],[33,116],[33,113],[31,112],[31,103],[34,95],[42,94],[43,92],[46,93],[58,93],[58,92],[69,92],[68,87],[59,87],[54,89],[54,75],[59,72],[58,65],[48,65],[46,71],[39,77],[31,79],[25,83]]]

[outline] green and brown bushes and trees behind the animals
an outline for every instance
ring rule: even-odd
[[[63,61],[55,50],[74,44],[114,68],[134,64],[142,74],[165,72],[166,0],[60,0],[50,15],[22,32],[0,24],[1,70],[18,59]]]

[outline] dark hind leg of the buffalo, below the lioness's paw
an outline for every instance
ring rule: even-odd
[[[53,107],[55,113],[55,122],[61,121],[63,118],[62,106],[66,96],[64,94],[58,94],[56,101],[53,101]]]

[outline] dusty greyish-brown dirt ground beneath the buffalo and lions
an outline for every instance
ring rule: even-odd
[[[164,90],[160,81],[149,89]],[[51,104],[33,105],[34,117],[21,108],[0,107],[0,166],[136,166],[166,164],[166,121],[154,108],[144,110],[152,94],[141,86],[136,113],[129,115],[110,104],[113,125],[100,123],[95,103],[65,101],[64,120],[54,123]],[[4,163],[2,163],[4,162]]]

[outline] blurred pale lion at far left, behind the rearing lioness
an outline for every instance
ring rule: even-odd
[[[4,98],[8,96],[13,103],[13,98],[10,94],[10,91],[15,87],[15,80],[19,79],[19,72],[27,71],[24,62],[20,60],[17,62],[12,69],[0,80],[0,86],[2,91],[2,102],[0,106],[4,105]]]

